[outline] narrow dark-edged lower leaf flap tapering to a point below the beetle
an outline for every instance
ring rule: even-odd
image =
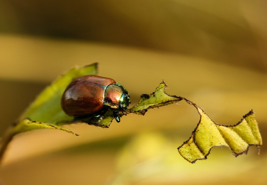
[[[66,128],[63,128],[63,127],[60,127],[57,125],[41,123],[38,121],[31,121],[30,119],[23,119],[23,120],[19,121],[12,129],[12,135],[15,135],[15,134],[18,134],[21,132],[26,132],[29,130],[35,130],[35,129],[56,129],[56,130],[62,130],[62,131],[68,132],[70,134],[79,136],[79,134],[76,134],[75,132],[73,132],[69,129],[66,129]]]

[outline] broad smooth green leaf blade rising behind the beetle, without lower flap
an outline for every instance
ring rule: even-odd
[[[97,63],[75,67],[63,76],[59,77],[35,99],[30,107],[21,115],[19,120],[30,118],[30,120],[57,125],[59,122],[72,121],[72,117],[65,114],[61,108],[61,97],[66,87],[75,78],[84,75],[95,75]]]

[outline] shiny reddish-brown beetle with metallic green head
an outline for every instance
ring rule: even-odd
[[[130,104],[125,87],[115,80],[96,75],[79,77],[72,81],[61,99],[61,107],[73,119],[86,119],[95,114],[99,118],[107,110],[120,122],[118,111],[124,112]]]

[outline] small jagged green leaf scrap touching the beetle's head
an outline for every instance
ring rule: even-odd
[[[128,113],[142,114],[144,115],[150,108],[158,108],[161,106],[169,105],[182,100],[182,97],[171,96],[165,93],[167,85],[162,82],[155,92],[150,94],[142,94],[139,102],[132,108],[125,111]]]

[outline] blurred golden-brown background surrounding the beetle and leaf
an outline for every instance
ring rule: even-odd
[[[267,2],[0,0],[0,134],[36,95],[73,66],[99,62],[132,105],[162,79],[215,122],[253,109],[260,155],[214,148],[191,164],[178,153],[199,121],[181,101],[123,116],[108,130],[79,124],[19,134],[0,184],[266,184]],[[44,113],[45,114],[45,113]]]

